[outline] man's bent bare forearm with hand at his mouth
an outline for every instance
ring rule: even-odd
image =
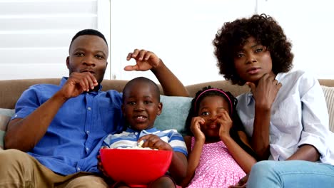
[[[27,152],[44,136],[59,108],[69,98],[76,97],[83,91],[93,89],[98,85],[91,73],[72,73],[63,88],[46,100],[33,113],[16,118],[9,122],[4,138],[6,149],[17,149]]]

